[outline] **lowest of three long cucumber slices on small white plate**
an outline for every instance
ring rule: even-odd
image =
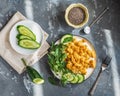
[[[18,45],[26,49],[37,49],[40,47],[40,44],[38,42],[28,39],[19,40]]]

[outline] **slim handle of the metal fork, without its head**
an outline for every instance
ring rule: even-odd
[[[90,88],[89,92],[88,92],[88,95],[89,96],[93,96],[94,92],[95,92],[95,89],[97,87],[97,84],[98,84],[98,81],[99,81],[99,78],[100,78],[100,75],[102,73],[102,68],[100,69],[99,73],[98,73],[98,76],[95,80],[95,82],[93,83],[92,87]]]

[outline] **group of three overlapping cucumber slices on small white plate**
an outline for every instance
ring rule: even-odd
[[[36,41],[35,34],[26,26],[18,25],[16,38],[18,39],[18,45],[25,49],[37,49],[40,47],[40,43]]]

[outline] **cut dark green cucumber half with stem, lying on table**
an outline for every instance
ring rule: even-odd
[[[35,83],[35,84],[42,84],[42,83],[44,83],[44,79],[37,72],[37,70],[35,70],[34,68],[28,66],[26,64],[26,61],[24,60],[24,58],[22,58],[21,60],[22,60],[23,64],[26,66],[26,71],[27,71],[30,79],[32,80],[32,82]]]

